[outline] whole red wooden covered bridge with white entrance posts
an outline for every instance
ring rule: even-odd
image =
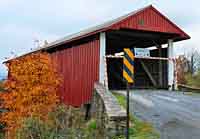
[[[64,77],[61,89],[62,101],[73,106],[88,103],[92,97],[94,82],[108,84],[109,89],[122,89],[122,60],[105,59],[106,55],[122,52],[125,47],[149,48],[154,57],[173,57],[173,42],[190,37],[156,10],[153,6],[134,11],[115,20],[89,28],[45,45],[39,50],[47,51],[58,63]],[[163,48],[163,44],[168,44]],[[30,54],[28,53],[28,54]],[[105,64],[105,60],[107,64]],[[135,87],[171,87],[174,69],[168,61],[143,60],[135,64]],[[9,61],[8,61],[9,62]],[[151,74],[151,78],[149,74]],[[106,74],[107,73],[107,74]],[[106,80],[108,76],[108,80]],[[152,83],[152,80],[154,84]]]

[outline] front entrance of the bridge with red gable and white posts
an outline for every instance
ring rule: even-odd
[[[102,80],[100,78],[102,83],[109,89],[124,89],[123,58],[115,56],[122,53],[124,48],[154,48],[150,50],[150,56],[162,60],[137,58],[132,88],[168,89],[175,86],[173,43],[189,39],[186,33],[152,6],[125,15],[110,24],[111,28],[100,35],[105,63],[102,62],[104,68],[100,71],[104,75]]]

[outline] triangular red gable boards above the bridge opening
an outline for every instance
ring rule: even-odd
[[[144,24],[139,22],[143,21]],[[136,29],[144,31],[154,31],[163,33],[177,33],[183,39],[189,39],[190,37],[183,32],[178,26],[172,23],[167,17],[161,14],[154,7],[150,6],[146,9],[129,16],[125,20],[116,23],[110,27],[111,29]]]

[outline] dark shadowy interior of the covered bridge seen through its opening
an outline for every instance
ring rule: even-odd
[[[106,55],[114,55],[123,52],[123,48],[149,48],[152,57],[167,57],[168,39],[176,34],[155,33],[136,30],[117,30],[106,34]],[[107,58],[108,86],[111,90],[124,89],[126,83],[123,80],[123,58]],[[135,60],[135,84],[132,88],[168,88],[168,61],[136,59]]]

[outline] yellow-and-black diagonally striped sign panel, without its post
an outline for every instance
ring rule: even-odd
[[[130,48],[124,48],[123,77],[128,83],[134,83],[134,52]]]

